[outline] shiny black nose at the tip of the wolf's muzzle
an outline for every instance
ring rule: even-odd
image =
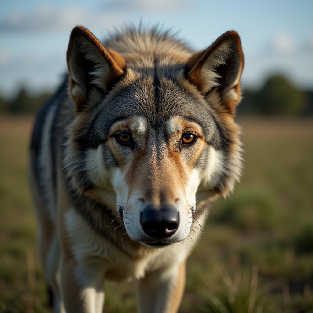
[[[179,215],[175,208],[160,209],[148,206],[141,213],[141,227],[145,233],[157,239],[171,237],[179,225]]]

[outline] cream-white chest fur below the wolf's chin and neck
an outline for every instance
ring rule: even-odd
[[[140,279],[146,272],[169,268],[182,262],[188,254],[186,243],[172,244],[167,248],[151,249],[145,256],[131,257],[124,251],[127,246],[118,247],[93,230],[73,208],[64,214],[66,231],[72,253],[80,266],[96,265],[104,270],[110,280]],[[191,250],[191,244],[189,246]]]

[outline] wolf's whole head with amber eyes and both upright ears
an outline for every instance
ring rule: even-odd
[[[72,186],[116,208],[135,241],[159,247],[186,239],[197,200],[227,194],[240,176],[239,36],[228,32],[192,56],[121,56],[77,27],[68,66]]]

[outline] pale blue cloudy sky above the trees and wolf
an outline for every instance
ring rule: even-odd
[[[180,31],[194,49],[235,29],[241,36],[242,82],[259,87],[271,73],[313,89],[313,1],[115,0],[50,2],[2,0],[0,91],[12,95],[21,84],[53,90],[66,69],[69,33],[84,25],[99,38],[125,23],[160,23]]]

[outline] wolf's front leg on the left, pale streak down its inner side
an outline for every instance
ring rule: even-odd
[[[102,271],[93,265],[78,265],[74,258],[61,260],[61,295],[66,313],[102,313]]]

